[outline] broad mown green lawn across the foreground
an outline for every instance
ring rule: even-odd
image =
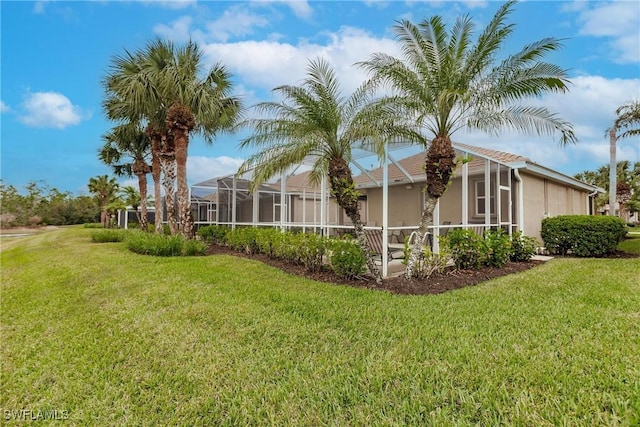
[[[640,259],[408,297],[90,233],[1,253],[9,425],[640,423]]]

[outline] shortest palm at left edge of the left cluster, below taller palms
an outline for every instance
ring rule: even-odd
[[[142,200],[147,200],[147,174],[151,172],[151,166],[147,163],[147,157],[151,152],[149,138],[139,125],[129,123],[116,126],[113,130],[103,135],[105,144],[98,153],[100,160],[111,166],[117,176],[136,176],[138,178],[138,191],[136,194]],[[124,163],[122,158],[125,157]],[[129,187],[125,187],[126,191]],[[135,189],[134,189],[135,190]],[[136,216],[140,228],[147,231],[147,205],[141,205],[141,212],[136,208]]]

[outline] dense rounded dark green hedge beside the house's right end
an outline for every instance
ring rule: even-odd
[[[552,254],[601,257],[615,251],[627,230],[618,217],[561,215],[543,219],[540,234]]]

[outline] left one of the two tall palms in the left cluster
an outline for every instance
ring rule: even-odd
[[[144,50],[114,55],[110,70],[103,79],[106,98],[103,109],[107,117],[120,122],[144,122],[151,141],[151,175],[154,184],[155,229],[162,233],[163,206],[161,185],[165,188],[167,222],[172,234],[177,233],[174,181],[175,153],[165,126],[168,105],[163,99],[160,76],[173,61],[173,46],[160,40],[147,44]],[[161,172],[164,180],[161,182]]]

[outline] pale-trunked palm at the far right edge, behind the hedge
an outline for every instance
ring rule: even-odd
[[[609,129],[609,188],[616,184],[616,144],[620,138],[640,135],[640,101],[631,101],[616,110],[618,116]],[[622,131],[618,135],[618,132]],[[616,193],[609,191],[609,215],[616,214]],[[622,210],[622,209],[621,209]],[[622,214],[622,212],[620,212]]]

